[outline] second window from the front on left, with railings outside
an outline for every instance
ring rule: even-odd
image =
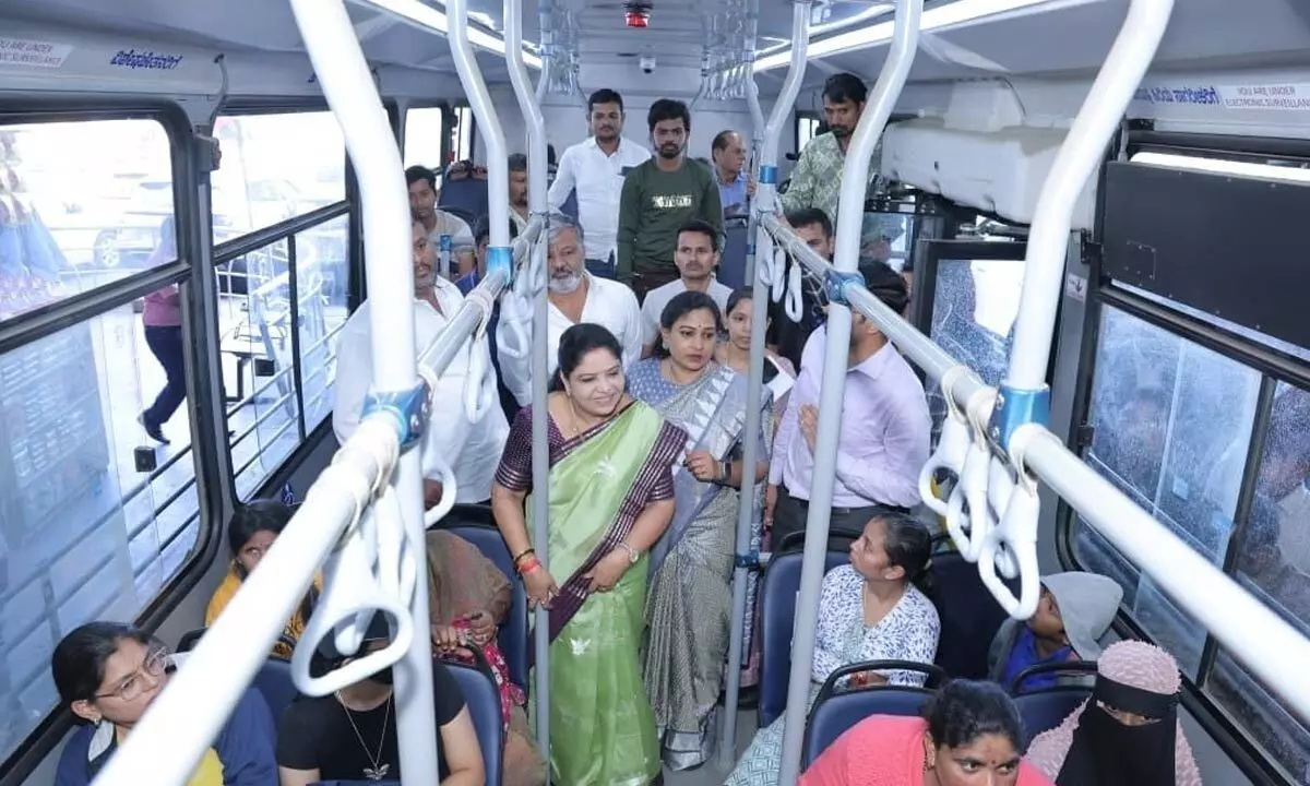
[[[215,176],[228,445],[237,495],[248,499],[331,414],[350,219],[343,203],[309,227],[296,219],[342,202],[346,151],[330,113],[241,115],[220,126],[228,194],[246,199],[242,210],[223,214]],[[232,255],[221,245],[279,224],[287,231],[262,248]]]

